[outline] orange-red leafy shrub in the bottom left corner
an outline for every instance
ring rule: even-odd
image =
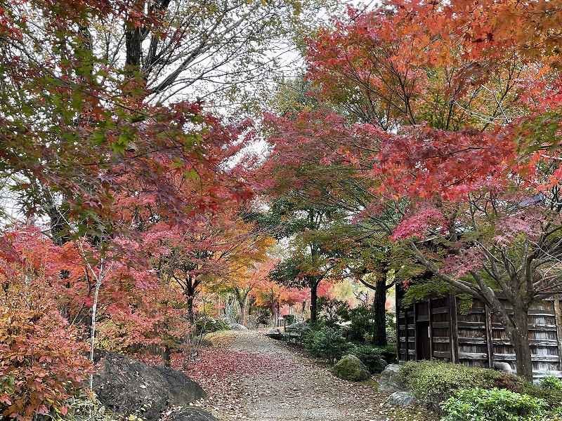
[[[42,279],[10,279],[0,294],[0,419],[65,415],[91,364]]]

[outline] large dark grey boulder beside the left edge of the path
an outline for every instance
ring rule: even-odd
[[[206,396],[181,371],[112,352],[96,352],[94,361],[100,361],[100,370],[93,376],[93,391],[106,408],[119,414],[155,421],[170,406],[189,406]]]

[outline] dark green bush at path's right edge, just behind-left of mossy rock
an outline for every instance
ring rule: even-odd
[[[308,352],[315,356],[324,356],[332,364],[353,348],[353,344],[347,342],[339,330],[328,326],[305,330],[302,342]]]

